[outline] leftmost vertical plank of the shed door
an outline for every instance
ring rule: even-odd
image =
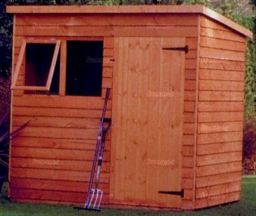
[[[116,117],[116,124],[117,124],[117,131],[114,131],[115,140],[113,140],[113,149],[112,151],[115,151],[115,157],[112,161],[113,167],[112,167],[112,175],[114,176],[114,181],[111,182],[110,188],[112,188],[110,191],[113,191],[114,193],[114,201],[113,203],[116,203],[118,200],[123,200],[125,197],[125,169],[123,168],[122,164],[125,163],[125,132],[127,129],[127,122],[125,121],[124,116],[127,114],[127,74],[128,74],[128,68],[126,67],[126,63],[128,61],[128,46],[129,46],[129,40],[128,38],[115,38],[115,46],[117,47],[115,49],[116,58],[119,58],[119,56],[122,56],[120,58],[120,61],[115,61],[115,64],[117,63],[115,67],[115,89],[117,91],[115,92],[116,97],[116,110],[115,110],[115,117]],[[121,73],[123,73],[121,76],[118,76],[119,70]],[[120,83],[123,83],[123,85],[120,85]],[[118,110],[122,110],[122,112],[118,112]],[[114,136],[113,136],[114,137]],[[111,177],[110,176],[110,177]]]

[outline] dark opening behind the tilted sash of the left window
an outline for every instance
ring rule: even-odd
[[[45,86],[49,77],[56,44],[27,44],[25,85]],[[25,94],[59,94],[60,57],[58,54],[51,87],[48,92],[26,90]]]

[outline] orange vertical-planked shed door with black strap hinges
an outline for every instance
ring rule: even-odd
[[[115,38],[110,203],[181,207],[185,38]],[[112,201],[112,202],[111,202]]]

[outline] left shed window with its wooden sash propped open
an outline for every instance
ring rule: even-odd
[[[24,40],[13,75],[12,89],[59,92],[60,40]],[[25,56],[25,59],[24,59]],[[24,85],[18,85],[24,65]],[[26,91],[29,93],[28,91]]]

